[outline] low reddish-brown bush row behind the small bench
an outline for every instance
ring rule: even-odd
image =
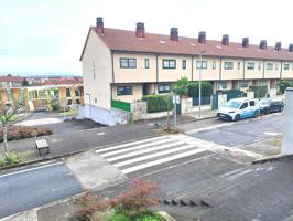
[[[8,140],[26,139],[31,137],[40,137],[52,135],[53,130],[47,127],[26,127],[12,125],[8,130]],[[0,128],[0,143],[3,141],[3,130]]]

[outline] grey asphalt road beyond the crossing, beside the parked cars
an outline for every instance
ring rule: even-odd
[[[276,113],[261,116],[257,119],[243,119],[238,123],[224,123],[211,119],[215,126],[225,124],[221,127],[206,129],[189,134],[192,137],[214,141],[228,147],[247,146],[249,144],[271,138],[282,133],[283,114]]]

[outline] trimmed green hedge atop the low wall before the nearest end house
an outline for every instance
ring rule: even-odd
[[[142,101],[148,103],[148,113],[166,112],[173,109],[173,99],[171,94],[145,95]]]

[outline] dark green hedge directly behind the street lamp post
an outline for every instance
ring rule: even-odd
[[[202,97],[210,97],[213,94],[213,84],[210,82],[202,82]],[[199,82],[192,82],[188,84],[188,96],[199,96]]]

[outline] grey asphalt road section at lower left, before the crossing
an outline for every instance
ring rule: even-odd
[[[82,191],[62,161],[0,173],[0,218],[56,201]]]

